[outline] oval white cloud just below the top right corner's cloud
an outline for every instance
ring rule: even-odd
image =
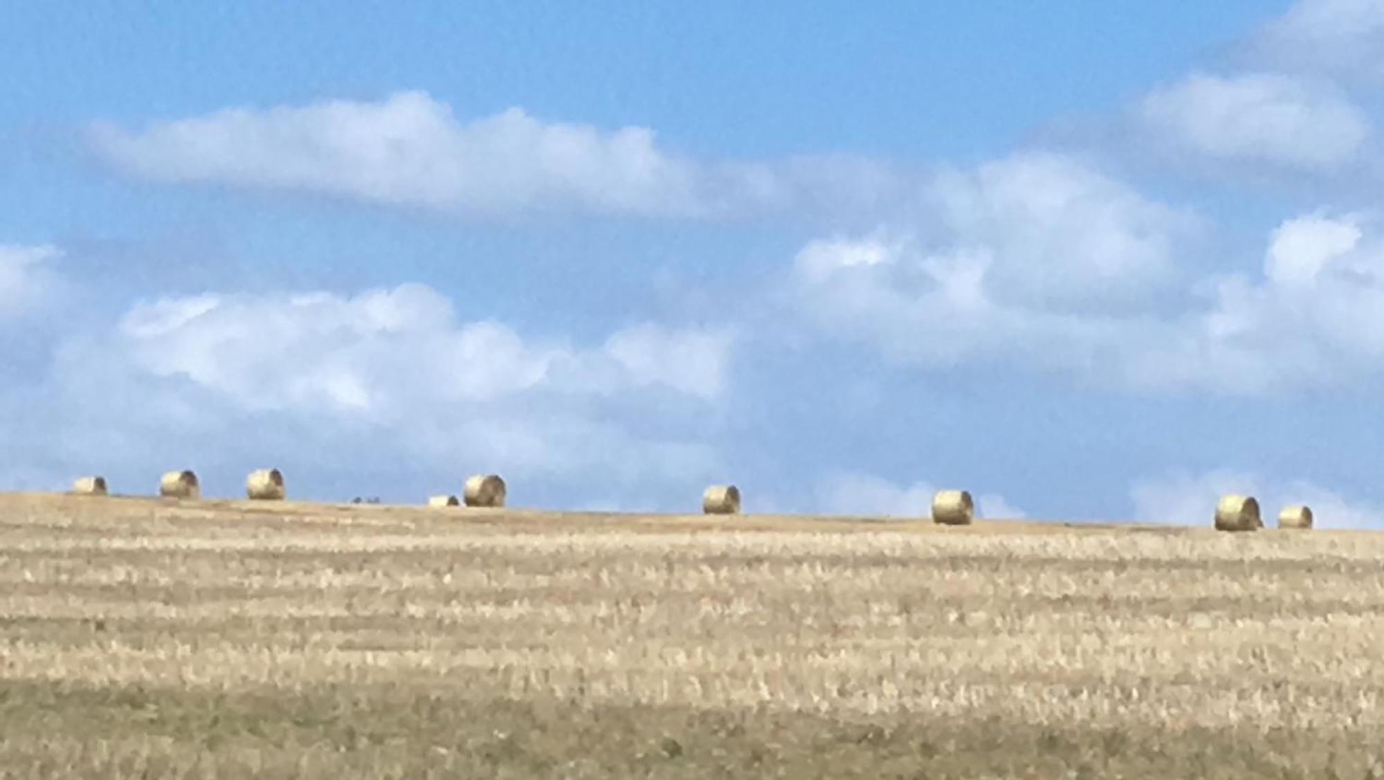
[[[1142,119],[1200,155],[1320,170],[1356,156],[1370,134],[1337,89],[1276,73],[1193,73],[1149,93]]]

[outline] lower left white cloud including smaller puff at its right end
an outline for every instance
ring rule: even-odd
[[[325,408],[389,418],[419,402],[493,401],[529,390],[663,387],[710,400],[729,340],[652,324],[597,350],[530,344],[489,321],[458,324],[424,285],[345,297],[201,295],[134,306],[109,349],[155,376],[181,376],[245,409]]]

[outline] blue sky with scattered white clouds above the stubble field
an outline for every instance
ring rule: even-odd
[[[1384,527],[1384,0],[12,3],[0,490]]]

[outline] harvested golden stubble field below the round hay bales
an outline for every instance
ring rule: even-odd
[[[0,777],[1384,777],[1384,535],[0,496]]]

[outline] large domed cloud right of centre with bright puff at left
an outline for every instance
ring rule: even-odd
[[[931,235],[808,242],[799,308],[829,332],[931,366],[974,361],[1096,373],[1146,339],[1194,217],[1080,160],[1016,155],[931,188]]]

